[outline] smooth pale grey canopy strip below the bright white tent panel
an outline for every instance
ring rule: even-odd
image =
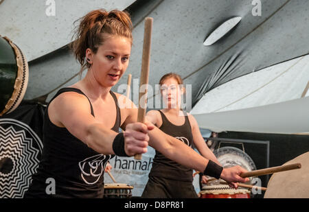
[[[277,104],[218,113],[194,114],[200,128],[214,132],[309,132],[309,97]]]

